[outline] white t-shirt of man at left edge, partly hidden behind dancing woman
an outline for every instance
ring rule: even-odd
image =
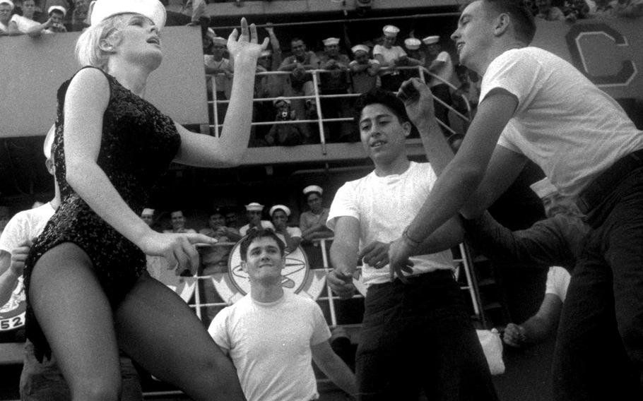
[[[37,208],[16,213],[0,235],[0,251],[11,253],[20,242],[40,235],[54,212],[52,205],[47,202]]]

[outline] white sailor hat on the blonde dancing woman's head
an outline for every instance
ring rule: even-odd
[[[124,13],[146,16],[154,21],[158,30],[165,26],[165,6],[158,0],[95,0],[89,6],[91,25]]]

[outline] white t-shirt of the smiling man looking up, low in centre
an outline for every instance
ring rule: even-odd
[[[315,301],[284,292],[263,304],[247,294],[215,317],[208,333],[230,350],[248,401],[309,401],[318,397],[312,345],[331,337]]]

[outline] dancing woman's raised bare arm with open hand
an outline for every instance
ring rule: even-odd
[[[177,124],[181,134],[181,148],[176,162],[198,167],[233,166],[241,162],[250,138],[252,124],[252,96],[256,59],[268,46],[268,38],[262,44],[256,42],[256,27],[248,27],[241,20],[241,35],[237,30],[228,37],[228,52],[235,61],[235,76],[228,112],[225,114],[223,131],[219,138],[192,133]]]

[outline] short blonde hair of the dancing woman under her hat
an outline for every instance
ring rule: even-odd
[[[93,66],[105,71],[110,52],[101,49],[100,41],[117,34],[133,14],[117,14],[92,25],[78,37],[76,59],[81,66]]]

